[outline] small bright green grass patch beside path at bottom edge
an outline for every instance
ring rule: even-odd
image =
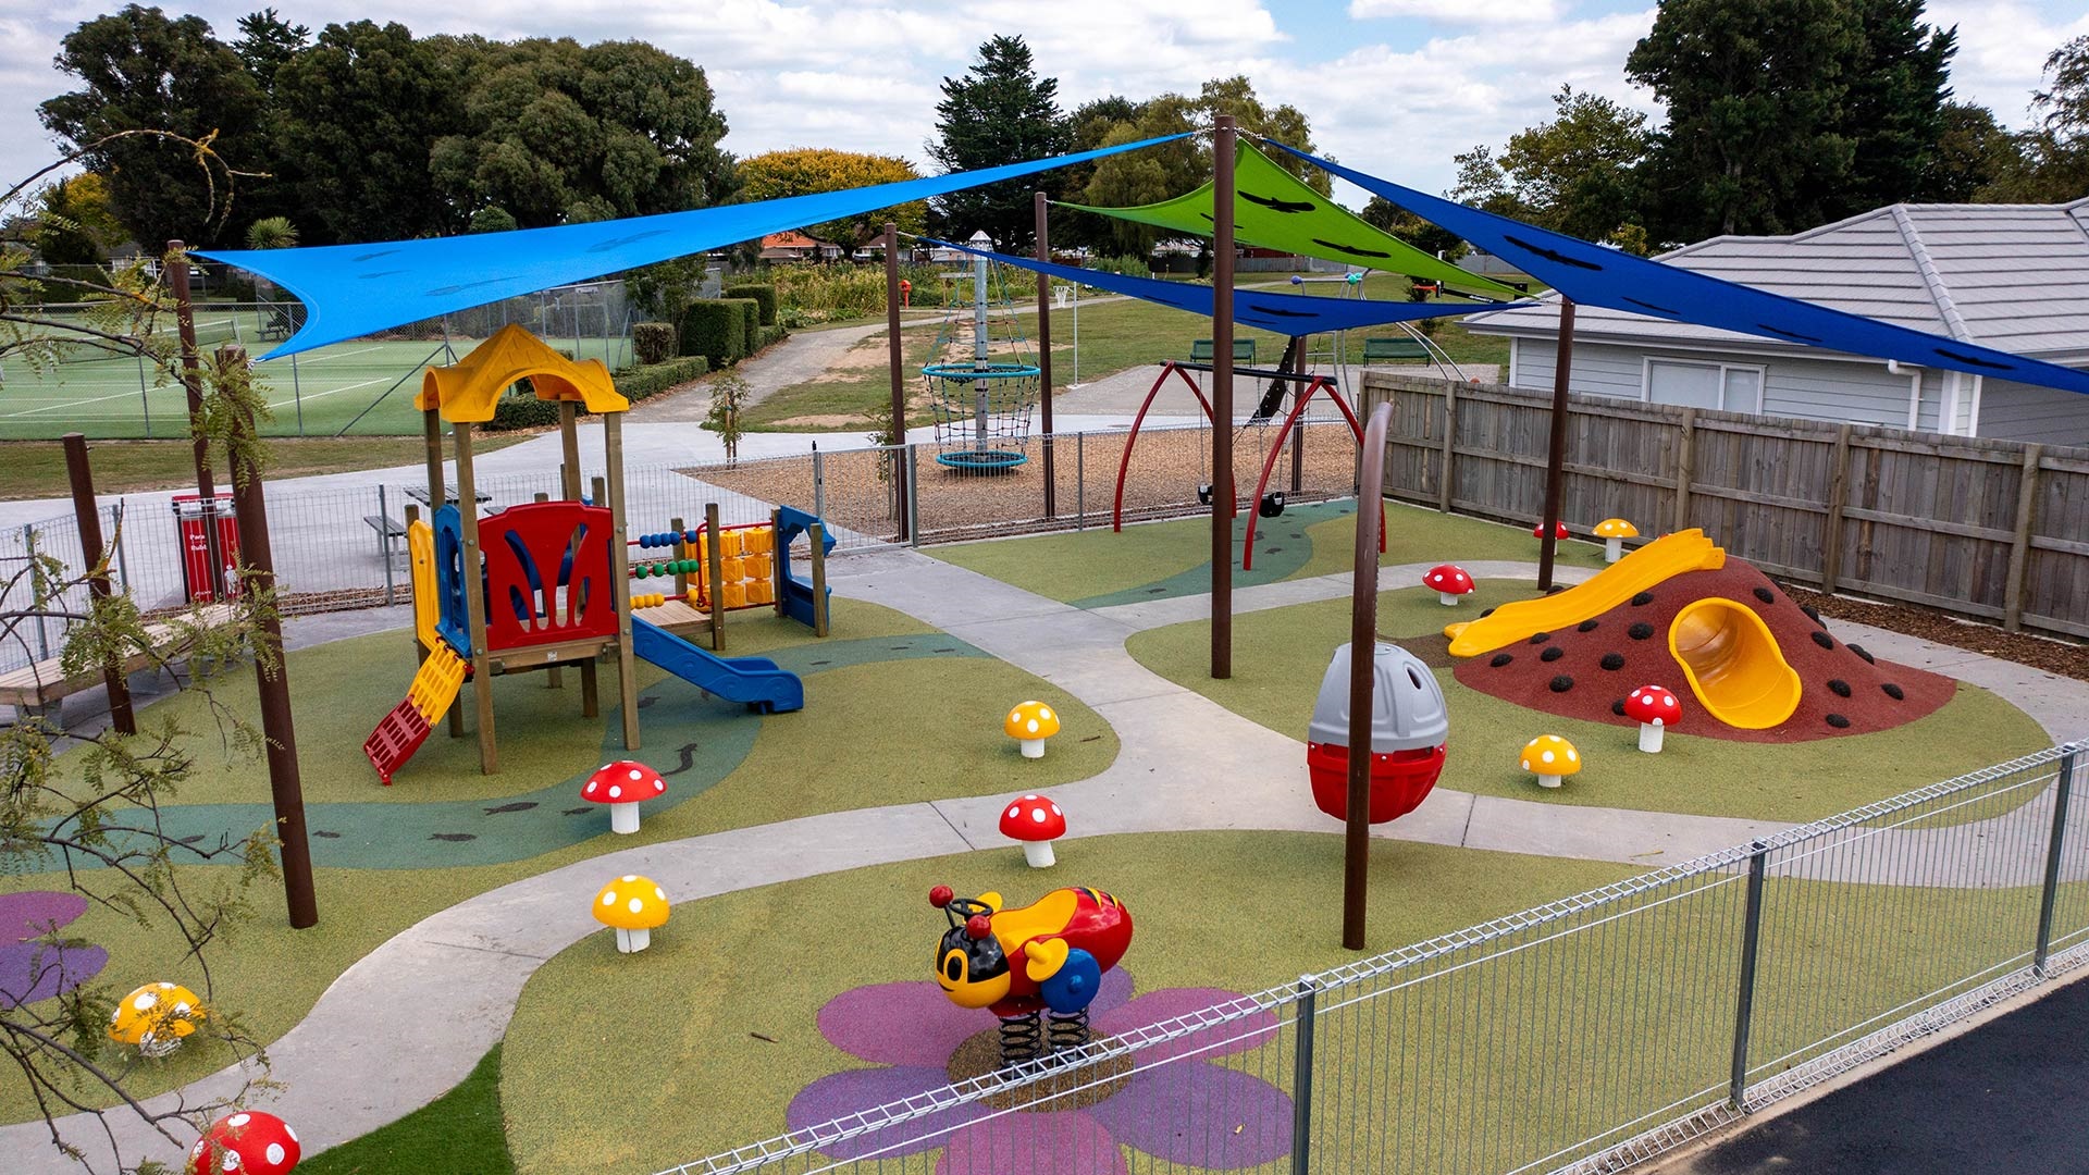
[[[397,1123],[307,1156],[305,1175],[514,1175],[501,1129],[501,1045],[455,1089]]]

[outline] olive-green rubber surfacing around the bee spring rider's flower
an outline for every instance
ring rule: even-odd
[[[1619,880],[1615,863],[1375,840],[1370,949]],[[930,886],[1034,901],[1103,886],[1134,916],[1139,991],[1260,991],[1356,960],[1339,947],[1341,838],[1306,832],[1097,836],[1036,872],[1015,847],[731,893],[675,909],[652,947],[591,935],[537,970],[508,1029],[501,1104],[516,1169],[660,1171],[783,1131],[806,1083],[863,1062],[815,1027],[852,987],[928,981]],[[980,1012],[980,1027],[992,1018]],[[604,1098],[602,1089],[616,1089]],[[925,1169],[925,1167],[923,1167]]]

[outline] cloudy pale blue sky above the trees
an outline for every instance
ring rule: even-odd
[[[263,0],[167,4],[211,21],[226,42]],[[1019,33],[1061,107],[1122,94],[1195,92],[1245,73],[1266,105],[1306,111],[1324,153],[1375,176],[1441,192],[1452,157],[1500,146],[1552,111],[1560,86],[1659,115],[1623,77],[1654,6],[1634,0],[276,0],[320,29],[399,21],[426,33],[495,40],[646,40],[704,67],[731,132],[758,155],[831,146],[925,165],[940,82],[961,75],[990,36]],[[52,69],[58,40],[115,0],[0,0],[0,159],[8,178],[56,155],[40,100],[73,88]],[[1951,82],[1962,100],[2024,125],[2045,56],[2089,33],[2081,0],[1932,0],[1957,25]],[[1339,192],[1345,203],[1358,194]]]

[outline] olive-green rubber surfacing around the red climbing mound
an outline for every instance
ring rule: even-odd
[[[1481,604],[1529,594],[1523,581],[1481,581]],[[1437,604],[1427,588],[1379,596],[1379,633],[1404,638],[1471,619]],[[1233,677],[1214,682],[1203,621],[1149,629],[1126,648],[1141,665],[1201,692],[1278,734],[1304,738],[1314,696],[1337,644],[1349,640],[1349,600],[1243,613],[1233,621]],[[1441,642],[1437,642],[1441,644]],[[1421,642],[1416,642],[1421,646]],[[1460,686],[1435,671],[1450,707],[1450,761],[1441,786],[1540,803],[1740,815],[1807,822],[2049,746],[2028,715],[1995,694],[1959,686],[1943,709],[1897,730],[1820,738],[1792,746],[1669,734],[1661,755],[1642,755],[1627,725],[1565,719]],[[1517,753],[1538,734],[1558,734],[1583,757],[1563,788],[1538,788]]]

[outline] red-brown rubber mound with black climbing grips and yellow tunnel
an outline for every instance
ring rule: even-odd
[[[1774,728],[1738,730],[1705,713],[1669,656],[1667,633],[1677,613],[1715,596],[1761,617],[1784,661],[1799,673],[1799,709]],[[1458,665],[1456,673],[1460,684],[1496,698],[1611,725],[1636,725],[1619,713],[1634,688],[1667,686],[1684,698],[1684,715],[1669,723],[1671,730],[1738,742],[1807,742],[1893,730],[1934,713],[1957,690],[1951,677],[1874,663],[1861,646],[1828,636],[1769,577],[1740,560],[1719,571],[1669,577],[1579,627],[1483,652]]]

